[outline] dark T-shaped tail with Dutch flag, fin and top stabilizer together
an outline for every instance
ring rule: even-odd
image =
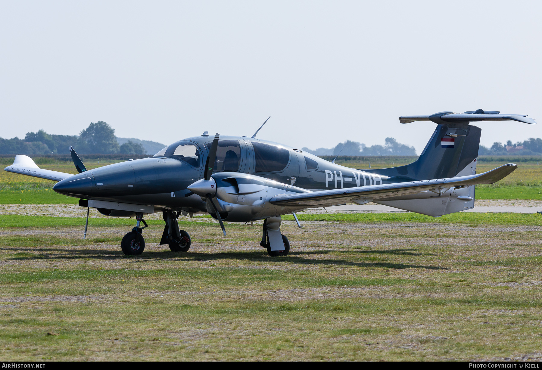
[[[420,158],[406,166],[364,171],[406,180],[467,176],[476,169],[482,132],[479,127],[470,126],[469,122],[512,120],[536,124],[536,121],[525,118],[524,115],[484,112],[482,109],[465,113],[440,112],[432,115],[402,116],[399,120],[402,123],[433,121],[437,124]]]

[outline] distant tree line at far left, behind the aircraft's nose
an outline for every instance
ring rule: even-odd
[[[0,138],[0,154],[68,154],[69,146],[80,154],[146,154],[143,145],[128,140],[119,145],[115,130],[104,121],[91,122],[79,135],[51,135],[41,129],[24,139]]]

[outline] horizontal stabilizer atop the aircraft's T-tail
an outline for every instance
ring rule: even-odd
[[[525,124],[536,125],[537,121],[527,118],[527,114],[501,114],[496,111],[469,111],[464,113],[438,112],[429,115],[403,115],[399,117],[399,122],[409,124],[414,121],[433,121],[435,124],[461,124],[468,122],[485,121],[518,121]]]

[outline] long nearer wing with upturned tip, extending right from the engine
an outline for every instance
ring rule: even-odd
[[[349,187],[345,189],[322,190],[310,193],[279,194],[270,199],[270,203],[280,206],[304,206],[306,208],[332,206],[353,202],[354,199],[384,199],[405,194],[416,194],[431,190],[435,193],[446,192],[451,187],[459,188],[477,184],[493,184],[518,168],[515,164],[506,164],[494,170],[462,177],[408,181],[385,185]]]

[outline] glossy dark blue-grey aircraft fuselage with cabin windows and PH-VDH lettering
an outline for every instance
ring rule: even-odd
[[[207,211],[186,189],[203,178],[212,137],[177,141],[150,158],[125,161],[62,180],[54,190],[82,199],[152,205],[166,210]],[[214,172],[241,172],[311,191],[405,181],[333,164],[266,140],[221,136]]]

